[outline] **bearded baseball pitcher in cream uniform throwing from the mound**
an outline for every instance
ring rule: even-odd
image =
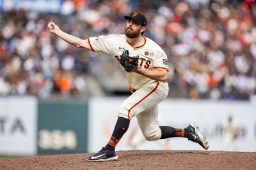
[[[132,117],[137,118],[140,129],[148,141],[172,137],[188,138],[201,145],[205,150],[208,142],[200,134],[198,127],[189,124],[184,129],[158,125],[158,104],[168,94],[168,58],[162,48],[154,41],[143,36],[147,18],[139,11],[124,16],[127,20],[125,34],[76,38],[67,34],[50,22],[48,30],[79,48],[96,53],[106,53],[122,68],[129,82],[132,94],[120,106],[116,125],[106,146],[88,157],[89,161],[118,160],[115,147],[127,131]]]

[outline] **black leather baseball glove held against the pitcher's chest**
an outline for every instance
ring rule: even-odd
[[[136,57],[130,57],[129,51],[124,50],[124,52],[121,55],[120,64],[124,67],[125,71],[131,73],[138,69],[138,60],[139,55],[137,55]]]

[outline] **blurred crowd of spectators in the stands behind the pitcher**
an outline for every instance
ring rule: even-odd
[[[79,38],[123,34],[124,15],[148,18],[145,36],[168,55],[168,97],[249,100],[256,95],[253,0],[75,0],[61,13],[1,11],[0,96],[83,96],[97,61],[125,81],[109,56],[77,49],[47,31],[55,22]]]

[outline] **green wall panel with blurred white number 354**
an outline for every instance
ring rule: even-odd
[[[42,100],[38,104],[38,153],[87,150],[87,101]]]

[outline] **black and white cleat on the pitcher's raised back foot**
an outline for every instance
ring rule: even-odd
[[[206,141],[206,138],[202,136],[202,134],[199,132],[198,126],[196,126],[195,122],[193,124],[189,124],[188,127],[188,140],[193,141],[195,143],[198,143],[201,145],[205,150],[209,148],[208,141]]]

